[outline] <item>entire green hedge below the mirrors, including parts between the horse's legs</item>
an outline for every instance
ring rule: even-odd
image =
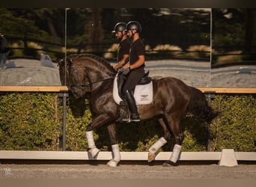
[[[0,93],[0,150],[61,150],[62,99],[58,93]],[[211,125],[211,151],[232,148],[235,151],[256,151],[255,95],[216,95],[211,105],[221,111]],[[88,99],[67,102],[66,150],[87,150],[85,129],[91,122]],[[191,117],[183,117],[185,139],[182,151],[205,151],[207,126]],[[147,151],[162,137],[157,119],[140,123],[118,123],[122,151]],[[106,126],[94,131],[101,150],[111,150]],[[171,151],[174,138],[162,147]]]

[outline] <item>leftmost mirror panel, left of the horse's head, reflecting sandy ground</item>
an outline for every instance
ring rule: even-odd
[[[61,85],[64,28],[65,9],[0,8],[0,85]]]

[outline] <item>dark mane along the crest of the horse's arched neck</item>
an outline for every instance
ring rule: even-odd
[[[114,72],[114,68],[112,67],[112,65],[109,63],[109,61],[106,61],[106,59],[101,58],[97,55],[93,55],[90,53],[82,53],[82,54],[70,54],[67,56],[67,58],[73,59],[73,58],[92,58],[98,62],[100,62],[100,64],[103,64],[104,66],[106,66],[110,71]]]

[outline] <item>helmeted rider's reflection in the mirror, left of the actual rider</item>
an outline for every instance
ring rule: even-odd
[[[115,33],[115,37],[120,40],[118,46],[118,63],[115,64],[114,69],[118,70],[123,67],[129,60],[129,46],[131,43],[127,38],[127,32],[125,31],[127,24],[125,22],[118,22],[112,33]]]

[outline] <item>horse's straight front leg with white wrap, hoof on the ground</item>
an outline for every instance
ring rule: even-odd
[[[114,123],[110,124],[108,126],[108,131],[109,131],[109,138],[110,142],[112,144],[112,156],[113,159],[111,159],[107,165],[111,167],[117,167],[118,163],[120,162],[121,159],[121,154],[118,146],[118,140],[117,140],[117,135],[116,135],[116,126]]]

